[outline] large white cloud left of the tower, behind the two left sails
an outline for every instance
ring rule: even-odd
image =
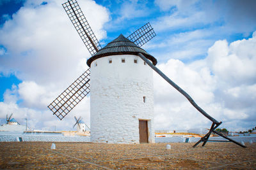
[[[63,1],[28,0],[12,19],[0,28],[0,73],[14,73],[22,81],[6,90],[0,103],[0,117],[13,113],[18,121],[28,118],[29,127],[69,130],[74,115],[90,125],[90,98],[85,97],[62,121],[47,108],[88,66],[88,50],[79,38],[65,10]],[[95,1],[79,1],[86,19],[100,40],[106,37],[103,25],[109,11]],[[95,18],[97,12],[97,18]],[[2,48],[3,47],[3,48]],[[89,121],[88,121],[89,120]],[[51,129],[52,130],[52,129]]]

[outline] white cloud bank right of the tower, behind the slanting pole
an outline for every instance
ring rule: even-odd
[[[209,115],[231,131],[250,128],[255,120],[255,33],[249,39],[216,41],[205,59],[184,64],[170,59],[158,65]],[[203,128],[211,122],[163,78],[154,74],[156,129]]]

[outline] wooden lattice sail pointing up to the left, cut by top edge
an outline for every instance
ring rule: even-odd
[[[84,17],[77,1],[68,0],[62,6],[91,55],[98,52],[101,48],[100,43]]]

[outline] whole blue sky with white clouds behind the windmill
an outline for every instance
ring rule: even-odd
[[[228,131],[256,126],[256,1],[77,0],[100,45],[150,22],[157,36],[142,46],[157,67]],[[90,96],[63,120],[47,106],[88,66],[90,53],[62,0],[0,1],[0,124],[6,114],[30,129],[90,125]],[[211,121],[156,73],[156,130],[211,127]]]

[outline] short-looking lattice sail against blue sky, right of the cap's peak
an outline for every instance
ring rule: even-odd
[[[154,36],[156,36],[156,33],[148,22],[147,24],[140,27],[140,29],[129,35],[127,39],[138,46],[143,46],[150,39],[154,38]]]

